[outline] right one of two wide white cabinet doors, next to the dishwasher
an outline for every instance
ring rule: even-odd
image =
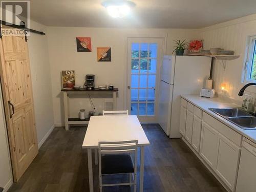
[[[219,151],[216,172],[222,181],[233,191],[237,180],[238,162],[241,150],[221,134],[219,134],[218,141]]]

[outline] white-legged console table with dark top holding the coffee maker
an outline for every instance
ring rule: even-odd
[[[118,88],[114,88],[114,90],[100,90],[95,88],[94,90],[86,90],[81,88],[79,90],[75,89],[61,89],[63,92],[63,104],[64,104],[64,114],[65,114],[65,129],[69,130],[70,124],[87,124],[89,123],[89,118],[81,120],[80,118],[69,118],[69,95],[79,95],[79,94],[112,94],[113,95],[113,110],[116,110],[116,95],[118,92]]]

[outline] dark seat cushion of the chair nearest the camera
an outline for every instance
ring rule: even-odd
[[[103,155],[101,158],[101,174],[134,173],[133,162],[130,155]]]

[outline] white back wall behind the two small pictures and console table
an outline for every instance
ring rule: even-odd
[[[167,37],[167,54],[173,52],[173,39],[193,39],[198,30],[187,29],[109,29],[109,28],[69,28],[49,27],[48,44],[51,66],[54,122],[63,125],[63,107],[61,89],[61,70],[75,70],[76,84],[82,85],[86,74],[96,75],[96,86],[111,83],[119,88],[117,109],[126,108],[126,39],[129,36]],[[91,37],[92,52],[77,52],[76,37]],[[111,47],[112,62],[97,62],[96,48]],[[86,97],[87,98],[87,97]],[[78,110],[92,111],[88,99],[72,99],[71,116],[77,116]],[[103,109],[103,100],[93,98],[96,112]]]

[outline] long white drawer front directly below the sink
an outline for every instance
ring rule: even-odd
[[[227,125],[223,124],[214,117],[211,117],[207,113],[203,113],[203,121],[207,122],[210,126],[214,127],[216,131],[221,133],[223,136],[228,138],[233,143],[237,144],[238,146],[241,146],[242,136],[239,133],[233,131]]]

